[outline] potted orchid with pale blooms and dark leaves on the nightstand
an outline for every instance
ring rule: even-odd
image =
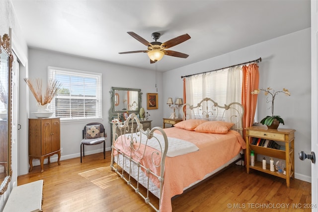
[[[274,89],[268,87],[267,89],[261,88],[261,89],[257,89],[251,92],[251,94],[258,94],[260,91],[264,91],[265,96],[268,96],[266,98],[266,102],[271,102],[272,106],[272,115],[271,116],[266,116],[265,118],[263,118],[260,123],[263,125],[266,125],[269,129],[277,129],[279,124],[282,123],[283,125],[285,125],[284,120],[280,117],[280,116],[274,116],[274,100],[277,94],[279,93],[284,93],[286,96],[290,96],[290,92],[288,89],[283,88],[283,90],[280,91],[275,91]]]

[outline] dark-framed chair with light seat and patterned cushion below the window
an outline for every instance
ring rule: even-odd
[[[105,134],[104,126],[98,122],[89,123],[85,125],[82,135],[83,135],[83,139],[80,142],[80,162],[81,162],[82,151],[83,151],[83,157],[85,156],[84,145],[96,145],[99,143],[104,143],[104,159],[105,159],[105,138],[107,138],[107,135]]]

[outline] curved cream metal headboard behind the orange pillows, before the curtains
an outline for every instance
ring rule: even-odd
[[[232,130],[243,135],[244,108],[238,102],[232,102],[221,106],[211,98],[202,99],[197,105],[184,104],[183,120],[205,119],[209,121],[224,121],[234,123]]]

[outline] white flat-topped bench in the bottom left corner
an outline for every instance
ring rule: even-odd
[[[12,189],[3,212],[42,212],[43,180]]]

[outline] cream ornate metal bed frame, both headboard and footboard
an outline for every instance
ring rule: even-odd
[[[184,104],[182,106],[182,111],[184,117],[183,119],[185,119],[186,117],[187,119],[206,119],[209,121],[219,120],[232,122],[235,124],[232,129],[238,131],[241,135],[243,133],[242,118],[244,109],[242,105],[237,102],[230,103],[229,105],[220,106],[212,99],[204,98],[195,106]],[[159,131],[162,134],[164,145],[160,144],[159,139],[154,136],[154,132],[156,131]],[[131,188],[133,188],[135,192],[145,200],[146,204],[149,204],[155,211],[159,212],[162,188],[164,183],[164,161],[168,146],[168,139],[165,132],[159,127],[154,127],[151,130],[147,129],[146,131],[144,131],[143,125],[140,123],[139,118],[135,114],[130,114],[128,119],[126,119],[124,122],[121,122],[118,119],[113,120],[112,132],[113,141],[111,146],[111,169],[114,170]],[[121,140],[118,140],[118,138],[124,134],[126,136],[122,137]],[[153,148],[147,146],[147,142],[146,145],[141,145],[141,139],[145,136],[147,137],[147,141],[155,138],[155,140],[159,142],[160,149],[154,150]],[[116,142],[121,142],[123,147],[122,150],[115,147]],[[151,162],[155,165],[155,167],[160,169],[159,174],[156,174],[154,170],[151,170],[151,168],[146,167],[139,162],[139,160],[142,160],[145,157],[147,148],[152,149]],[[138,156],[137,151],[143,152],[143,154],[141,156]],[[115,156],[115,153],[117,153],[117,156]],[[122,160],[119,160],[120,155],[123,158]],[[155,162],[153,157],[154,155],[160,157],[160,163]],[[133,171],[133,166],[138,167],[137,173]],[[146,174],[147,183],[140,182],[141,175],[144,174],[142,172],[145,172]],[[152,192],[150,184],[151,178],[153,177],[157,178],[160,184],[159,197],[156,195],[159,198],[158,208],[151,202],[149,195],[149,192]],[[137,182],[133,184],[132,178],[135,179]],[[140,186],[146,188],[146,195],[140,191]]]

